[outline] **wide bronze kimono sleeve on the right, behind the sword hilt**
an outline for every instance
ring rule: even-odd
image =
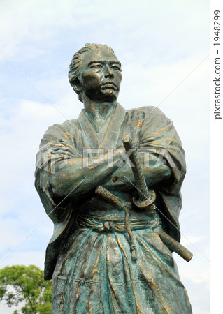
[[[145,110],[140,143],[139,151],[151,150],[152,154],[166,160],[166,165],[171,168],[173,179],[157,186],[161,200],[159,215],[166,232],[180,241],[178,219],[182,207],[180,188],[186,173],[185,151],[173,122],[159,108],[148,107]]]

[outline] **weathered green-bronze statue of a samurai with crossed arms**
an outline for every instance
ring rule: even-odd
[[[161,110],[117,103],[121,80],[111,48],[79,50],[69,81],[84,109],[50,126],[36,156],[55,225],[45,257],[53,314],[192,313],[172,255],[192,257],[179,244],[185,153]]]

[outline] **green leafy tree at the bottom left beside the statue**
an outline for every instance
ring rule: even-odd
[[[25,305],[23,314],[48,314],[51,308],[51,281],[44,281],[43,271],[34,265],[13,265],[0,269],[0,301],[8,306]],[[14,311],[14,314],[19,314]]]

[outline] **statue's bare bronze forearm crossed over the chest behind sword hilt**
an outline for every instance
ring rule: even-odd
[[[71,197],[85,195],[96,186],[103,185],[110,190],[133,188],[134,176],[130,165],[123,162],[124,147],[113,151],[113,156],[103,154],[88,158],[87,167],[83,158],[73,158],[65,161],[64,166],[52,176],[52,192],[57,197],[70,193]],[[142,170],[148,186],[154,186],[171,177],[171,169],[164,162],[159,162],[158,156],[149,153],[138,153]],[[102,158],[102,159],[101,159]],[[126,157],[125,157],[126,158]],[[103,163],[101,162],[103,160]]]

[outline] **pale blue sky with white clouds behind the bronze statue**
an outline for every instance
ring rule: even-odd
[[[34,189],[35,155],[48,126],[82,109],[67,79],[73,54],[86,42],[106,43],[122,62],[121,105],[159,105],[182,140],[180,225],[194,257],[175,260],[194,313],[210,313],[209,1],[45,2],[0,4],[0,267],[43,269],[53,226]]]

